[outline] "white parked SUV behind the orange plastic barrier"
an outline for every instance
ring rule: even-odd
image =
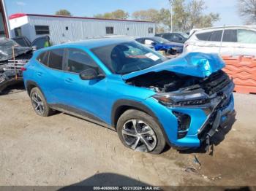
[[[195,31],[184,44],[184,52],[256,55],[256,27],[228,26]]]

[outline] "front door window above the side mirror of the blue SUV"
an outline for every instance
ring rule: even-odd
[[[67,71],[80,73],[86,69],[94,69],[99,73],[97,63],[83,50],[70,48],[67,55]]]

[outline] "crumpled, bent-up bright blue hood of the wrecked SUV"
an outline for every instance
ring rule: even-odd
[[[148,72],[173,71],[193,77],[208,77],[215,71],[225,67],[222,58],[217,54],[206,54],[201,52],[189,52],[182,54],[172,60],[159,63],[148,69],[134,71],[122,76],[123,79],[138,77]]]

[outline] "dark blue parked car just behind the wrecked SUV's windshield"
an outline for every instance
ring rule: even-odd
[[[153,46],[154,50],[163,50],[170,55],[181,54],[183,52],[183,44],[170,42],[167,39],[163,39],[161,37],[143,37],[135,40],[141,44],[145,44],[148,47]]]

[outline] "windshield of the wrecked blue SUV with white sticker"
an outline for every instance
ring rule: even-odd
[[[147,69],[166,60],[138,42],[124,42],[91,50],[114,74],[128,74]]]

